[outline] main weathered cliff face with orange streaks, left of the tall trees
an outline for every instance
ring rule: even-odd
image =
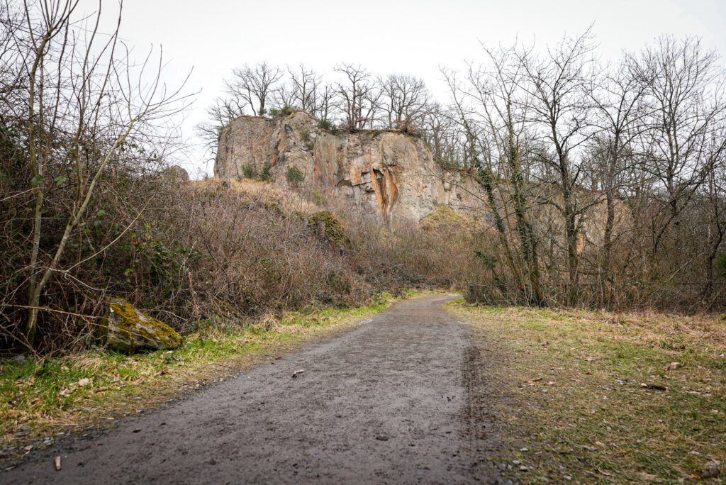
[[[303,182],[287,176],[293,167]],[[481,208],[434,163],[422,140],[395,131],[333,134],[299,110],[275,119],[237,118],[221,133],[214,173],[225,179],[269,174],[280,188],[308,187],[375,211],[385,222],[419,221],[436,205]]]

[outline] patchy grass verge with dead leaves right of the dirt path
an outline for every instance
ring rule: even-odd
[[[506,473],[533,483],[726,483],[724,320],[449,309],[481,349],[505,440],[490,460]]]

